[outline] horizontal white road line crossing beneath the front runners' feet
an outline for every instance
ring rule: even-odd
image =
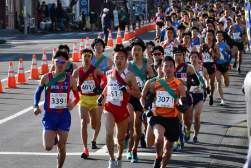
[[[80,156],[82,153],[78,153],[78,152],[73,152],[73,153],[66,153],[67,156]],[[96,152],[90,152],[89,153],[90,156],[109,156],[109,153],[96,153]],[[45,152],[0,152],[0,155],[33,155],[33,156],[57,156],[58,153],[45,153]],[[122,154],[123,156],[126,156],[126,153]],[[138,156],[156,156],[156,153],[145,153],[145,152],[137,152]],[[202,154],[172,154],[172,157],[203,157],[203,158],[210,158],[210,155],[202,155]]]

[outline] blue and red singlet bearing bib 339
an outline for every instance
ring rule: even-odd
[[[49,73],[49,81],[52,79],[52,73]],[[68,104],[70,91],[70,75],[67,74],[64,81],[56,82],[47,89],[44,110],[53,113],[69,112],[68,108],[64,107]]]

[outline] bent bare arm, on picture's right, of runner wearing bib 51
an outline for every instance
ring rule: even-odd
[[[126,75],[126,78],[128,78],[130,86],[132,86],[134,89],[134,91],[131,89],[127,89],[127,93],[129,93],[130,95],[132,95],[136,98],[141,98],[141,92],[139,90],[139,86],[137,84],[135,75],[131,72],[128,72]]]

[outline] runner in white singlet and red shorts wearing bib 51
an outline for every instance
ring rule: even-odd
[[[108,85],[102,95],[97,100],[99,106],[102,105],[104,97],[107,95],[105,103],[105,126],[106,145],[110,155],[108,168],[122,167],[122,153],[124,150],[124,136],[127,131],[128,117],[130,116],[128,100],[130,95],[140,98],[141,93],[137,85],[134,74],[126,69],[127,51],[122,44],[116,44],[113,48],[115,52],[115,69],[107,71]],[[134,90],[130,88],[133,87]],[[116,139],[118,155],[115,161],[113,130],[116,124]]]

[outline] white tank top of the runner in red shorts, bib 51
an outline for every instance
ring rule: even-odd
[[[124,70],[124,72],[120,75],[122,79],[125,79],[126,74],[129,71],[127,69]],[[115,79],[112,79],[112,70],[108,71],[107,74],[107,102],[110,102],[116,106],[121,106],[122,102],[125,103],[125,101],[127,101],[126,103],[128,103],[128,100],[124,100],[124,93],[122,91],[119,90],[118,87],[118,81]],[[127,89],[129,89],[128,86],[126,86]]]

